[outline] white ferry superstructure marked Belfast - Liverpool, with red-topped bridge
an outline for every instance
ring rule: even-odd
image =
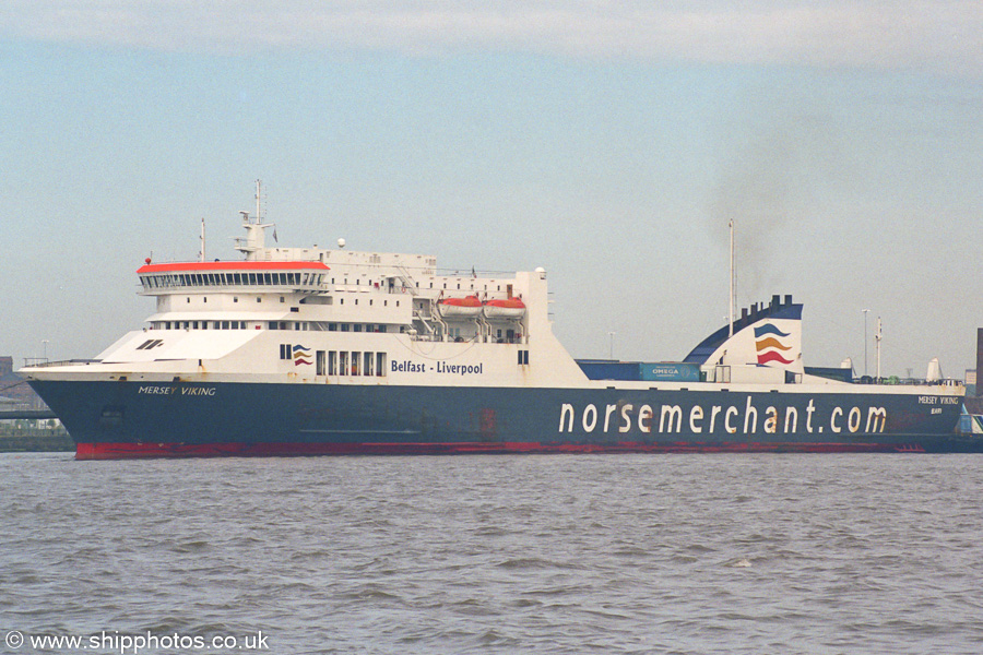
[[[140,294],[156,299],[156,311],[90,372],[347,384],[458,376],[479,386],[587,380],[553,336],[543,270],[439,274],[430,255],[351,251],[342,240],[337,249],[267,248],[272,224],[244,213],[242,226],[242,261],[147,261]],[[550,364],[531,367],[536,359]]]

